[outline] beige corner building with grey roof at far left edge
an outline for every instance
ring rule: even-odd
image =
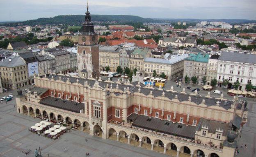
[[[0,77],[4,88],[27,85],[27,64],[20,56],[10,56],[0,62]]]

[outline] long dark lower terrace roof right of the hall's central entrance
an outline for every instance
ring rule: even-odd
[[[133,113],[128,117],[133,120],[132,125],[140,128],[146,128],[149,130],[158,130],[161,133],[167,133],[171,135],[177,135],[179,137],[185,137],[188,139],[194,139],[196,126],[186,126],[181,123],[173,123],[168,120],[161,120],[159,118],[149,117],[146,115],[138,115],[137,118],[134,117]]]

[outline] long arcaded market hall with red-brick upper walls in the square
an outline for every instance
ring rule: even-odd
[[[177,157],[233,157],[235,133],[248,111],[236,97],[230,102],[223,95],[213,99],[62,74],[34,80],[36,86],[16,98],[18,113],[48,115],[80,124],[90,135]]]

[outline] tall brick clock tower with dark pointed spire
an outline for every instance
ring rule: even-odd
[[[78,74],[80,77],[99,77],[98,35],[94,33],[88,2],[82,24],[82,34],[78,37]]]

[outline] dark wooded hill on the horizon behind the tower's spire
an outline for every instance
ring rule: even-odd
[[[154,22],[155,20],[150,18],[142,18],[133,15],[91,15],[92,21],[107,22],[107,21],[117,21],[117,22]],[[27,20],[22,22],[8,22],[5,25],[30,25],[34,26],[36,24],[69,24],[75,25],[81,23],[85,20],[85,15],[59,15],[53,18],[39,18],[36,20]]]

